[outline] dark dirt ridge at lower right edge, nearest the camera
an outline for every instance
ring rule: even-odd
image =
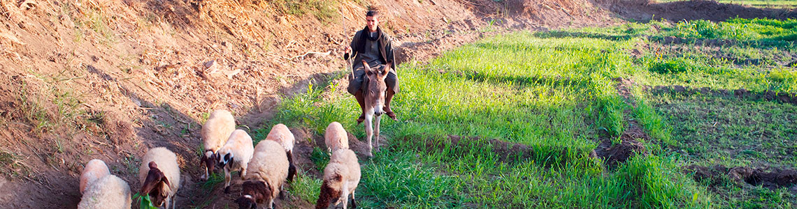
[[[683,170],[685,173],[693,173],[694,179],[698,181],[710,180],[713,185],[720,184],[723,176],[733,180],[736,184],[761,185],[764,188],[776,189],[797,185],[797,170],[782,168],[749,168],[734,167],[728,168],[723,165],[705,167],[700,165],[689,165]]]

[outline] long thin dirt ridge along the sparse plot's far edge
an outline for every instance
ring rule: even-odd
[[[715,96],[736,96],[740,99],[752,99],[752,100],[767,100],[767,101],[779,101],[781,103],[791,103],[797,105],[797,94],[795,93],[786,93],[786,92],[775,92],[775,91],[763,91],[763,92],[756,92],[756,91],[748,91],[744,88],[736,89],[736,90],[727,90],[727,89],[712,89],[709,87],[700,87],[700,88],[693,88],[693,87],[683,87],[683,86],[656,86],[656,87],[646,87],[650,89],[650,92],[654,94],[677,94],[677,95],[693,95],[693,94],[703,94],[703,95],[715,95]]]

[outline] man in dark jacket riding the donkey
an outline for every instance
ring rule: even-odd
[[[347,91],[354,95],[359,103],[359,108],[362,110],[357,118],[357,124],[365,120],[366,110],[366,91],[368,76],[366,70],[371,68],[383,70],[390,69],[390,72],[384,77],[387,91],[385,91],[384,107],[382,111],[387,114],[387,117],[396,119],[396,114],[391,110],[391,99],[393,95],[398,93],[398,77],[391,64],[395,64],[393,56],[393,45],[391,44],[391,37],[387,33],[382,32],[379,28],[379,12],[371,10],[365,14],[366,27],[358,31],[354,38],[351,40],[351,45],[347,46],[347,54],[354,55],[354,69],[353,78],[349,81]],[[375,110],[379,115],[380,110]]]

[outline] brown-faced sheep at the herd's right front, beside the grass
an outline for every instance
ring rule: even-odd
[[[324,182],[316,201],[316,208],[327,208],[330,203],[343,203],[344,209],[351,194],[351,207],[357,207],[354,192],[359,184],[360,170],[357,155],[351,149],[338,149],[332,153],[327,168],[324,168]]]

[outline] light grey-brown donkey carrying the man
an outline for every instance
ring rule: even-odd
[[[368,63],[363,60],[363,67],[365,68],[365,75],[367,78],[367,87],[363,92],[365,96],[365,134],[368,137],[368,157],[373,157],[372,150],[374,145],[371,145],[371,139],[376,132],[376,149],[379,150],[379,121],[384,113],[382,107],[385,104],[385,91],[387,91],[387,84],[385,84],[385,77],[391,71],[391,62],[385,64],[385,68],[381,71],[376,68],[371,68]],[[376,116],[376,123],[374,124],[374,116]],[[376,126],[376,127],[373,127]]]

